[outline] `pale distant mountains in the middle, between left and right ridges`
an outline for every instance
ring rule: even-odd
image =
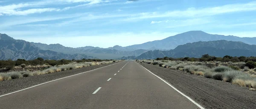
[[[144,49],[135,49],[134,51],[125,51],[122,48],[122,46],[113,46],[110,48],[99,48],[99,47],[93,47],[93,46],[85,46],[85,47],[79,47],[79,48],[71,48],[71,47],[65,47],[61,44],[43,44],[43,43],[33,43],[32,44],[42,50],[51,50],[55,52],[61,52],[65,54],[86,54],[88,56],[98,57],[100,59],[115,59],[122,56],[139,56],[140,54],[143,54],[144,52],[147,52],[148,50]]]

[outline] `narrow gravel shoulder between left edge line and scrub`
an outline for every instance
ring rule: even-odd
[[[121,61],[122,62],[122,61]],[[120,62],[115,62],[120,63]],[[13,80],[4,80],[0,81],[0,95],[4,95],[10,92],[15,92],[17,90],[26,89],[31,86],[35,86],[41,83],[45,83],[51,80],[56,80],[62,77],[67,77],[70,75],[75,75],[81,72],[90,71],[93,69],[97,69],[103,66],[108,66],[114,63],[108,63],[108,64],[102,64],[102,65],[96,65],[96,66],[88,66],[80,69],[73,69],[73,70],[67,70],[62,72],[55,72],[51,74],[45,74],[45,75],[37,75],[37,76],[31,76],[31,77],[24,77],[19,79],[13,79]]]

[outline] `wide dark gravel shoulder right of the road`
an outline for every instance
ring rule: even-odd
[[[140,63],[206,109],[255,109],[256,91],[224,81]]]

